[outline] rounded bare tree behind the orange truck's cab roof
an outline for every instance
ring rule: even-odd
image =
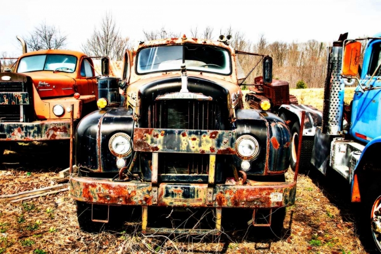
[[[59,28],[54,25],[47,25],[46,22],[36,26],[34,31],[29,33],[25,43],[29,50],[61,49],[66,46],[66,35],[61,35]]]

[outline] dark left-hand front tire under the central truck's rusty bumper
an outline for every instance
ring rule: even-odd
[[[79,228],[88,233],[99,233],[104,223],[97,223],[91,220],[91,204],[81,201],[76,201],[76,203]]]

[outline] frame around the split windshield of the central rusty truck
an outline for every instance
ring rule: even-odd
[[[222,75],[222,76],[230,76],[232,75],[233,73],[233,63],[232,63],[232,55],[231,55],[231,52],[229,49],[227,48],[224,48],[224,47],[219,47],[219,46],[214,46],[214,45],[207,45],[207,44],[196,44],[196,43],[182,43],[182,44],[159,44],[159,45],[152,45],[152,46],[148,46],[148,47],[142,47],[142,48],[139,48],[136,52],[136,59],[135,59],[135,73],[139,76],[142,76],[142,75],[147,75],[147,74],[152,74],[152,73],[163,73],[163,72],[175,72],[175,71],[180,71],[180,68],[178,69],[171,69],[171,70],[160,70],[160,71],[153,71],[153,72],[145,72],[145,73],[140,73],[138,72],[138,59],[139,59],[139,53],[141,50],[143,49],[147,49],[147,48],[154,48],[154,47],[165,47],[165,46],[182,46],[182,62],[184,62],[184,57],[185,57],[185,54],[184,54],[184,47],[186,45],[195,45],[195,46],[207,46],[207,47],[211,47],[211,48],[218,48],[218,49],[221,49],[221,50],[225,50],[226,52],[228,52],[228,57],[227,59],[229,59],[229,70],[230,72],[229,73],[219,73],[219,72],[213,72],[213,71],[206,71],[206,70],[195,70],[195,69],[191,69],[191,68],[188,68],[186,67],[186,70],[187,71],[192,71],[192,72],[199,72],[199,73],[211,73],[211,74],[216,74],[216,75]]]

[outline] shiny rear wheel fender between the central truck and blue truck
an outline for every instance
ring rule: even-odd
[[[322,126],[323,112],[309,105],[283,104],[279,107],[278,115],[284,114],[287,120],[291,120],[291,127],[296,121],[301,124],[302,111],[305,111],[303,136],[315,136],[316,126]]]

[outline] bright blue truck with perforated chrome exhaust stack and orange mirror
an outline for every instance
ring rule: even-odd
[[[362,215],[374,248],[381,252],[381,33],[348,40],[340,35],[328,47],[323,112],[306,105],[282,105],[279,116],[289,122],[291,165],[302,111],[305,111],[300,166],[311,164],[326,175],[333,169],[351,184],[351,201],[361,202]],[[362,68],[362,43],[366,42]],[[350,105],[344,105],[344,87],[356,85]]]

